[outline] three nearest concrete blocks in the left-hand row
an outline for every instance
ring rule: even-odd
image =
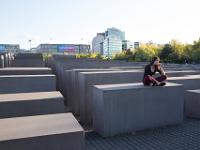
[[[11,84],[2,86],[1,92],[12,93],[0,95],[0,149],[84,150],[84,131],[71,113],[65,113],[64,98],[55,91],[54,75],[0,78],[1,83]],[[20,90],[14,90],[16,83]],[[31,93],[18,93],[22,91]]]

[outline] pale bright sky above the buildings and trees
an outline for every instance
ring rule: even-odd
[[[0,0],[0,44],[91,44],[110,27],[132,42],[192,43],[200,37],[199,6],[200,0]]]

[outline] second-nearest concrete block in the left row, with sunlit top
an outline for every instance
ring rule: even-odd
[[[0,95],[0,119],[64,112],[64,98],[57,91]]]

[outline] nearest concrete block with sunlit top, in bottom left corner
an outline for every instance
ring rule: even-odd
[[[0,119],[2,150],[84,150],[84,132],[71,113]]]

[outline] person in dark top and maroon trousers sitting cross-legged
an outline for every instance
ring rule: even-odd
[[[153,75],[155,75],[156,72],[160,73],[160,76],[155,78]],[[165,71],[160,63],[159,57],[153,57],[150,64],[145,66],[144,69],[144,77],[143,77],[143,83],[147,86],[164,86],[166,84],[167,76],[165,74]]]

